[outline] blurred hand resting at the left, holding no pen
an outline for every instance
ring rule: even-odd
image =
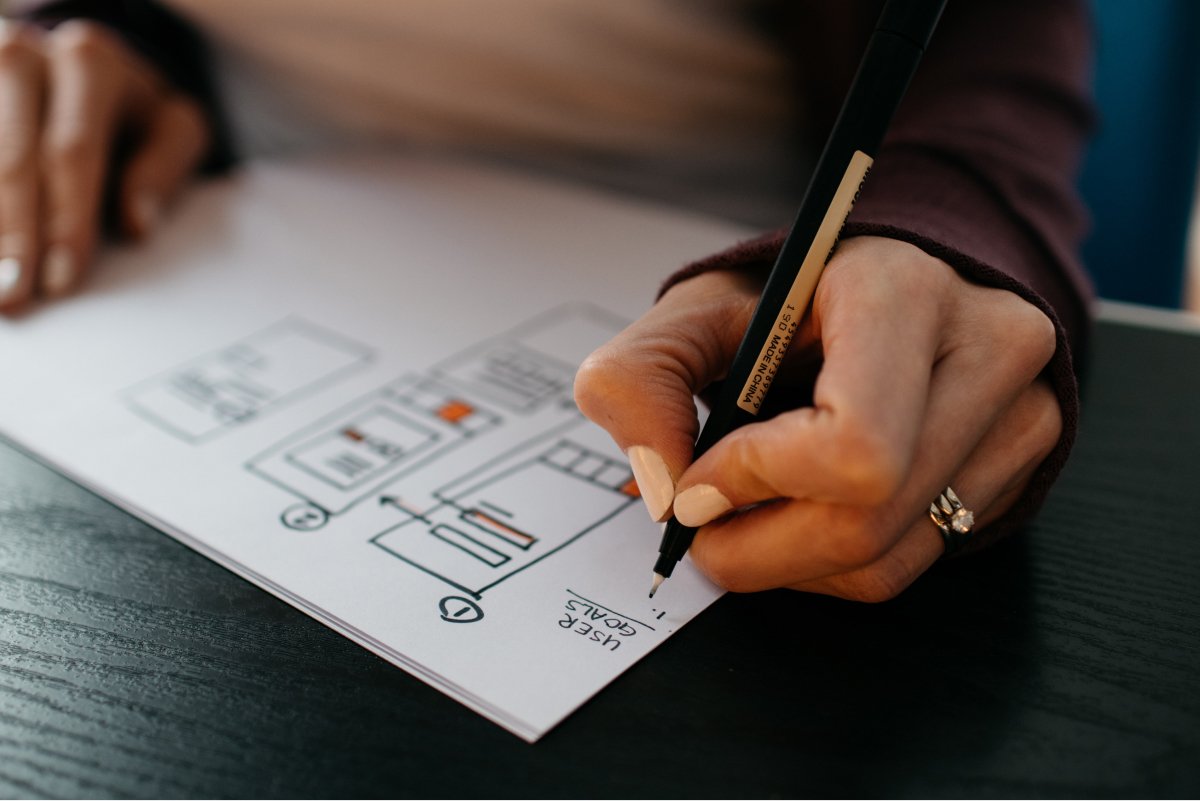
[[[0,22],[0,312],[80,284],[109,180],[121,231],[146,235],[208,140],[200,108],[104,28]]]

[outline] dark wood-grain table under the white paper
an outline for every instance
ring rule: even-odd
[[[1200,336],[1105,323],[1028,532],[727,596],[536,745],[0,446],[0,795],[1195,796]]]

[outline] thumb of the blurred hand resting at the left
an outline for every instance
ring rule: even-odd
[[[163,206],[192,174],[208,143],[208,122],[193,101],[172,96],[158,103],[121,176],[122,233],[143,239],[154,230]]]

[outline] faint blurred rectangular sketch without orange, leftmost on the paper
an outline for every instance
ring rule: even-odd
[[[125,402],[162,430],[199,444],[336,383],[371,357],[365,345],[288,318],[143,381]]]

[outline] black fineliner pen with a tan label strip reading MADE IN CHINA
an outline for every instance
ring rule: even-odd
[[[696,439],[695,458],[757,417],[944,7],[946,0],[888,0],[880,13],[792,230]],[[650,597],[688,553],[695,535],[696,529],[673,517],[667,522]]]

